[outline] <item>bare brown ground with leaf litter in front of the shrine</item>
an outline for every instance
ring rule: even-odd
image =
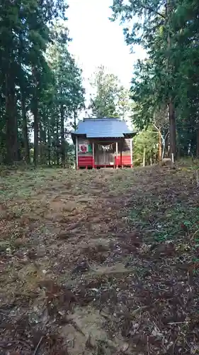
[[[199,354],[194,172],[2,171],[0,354]]]

